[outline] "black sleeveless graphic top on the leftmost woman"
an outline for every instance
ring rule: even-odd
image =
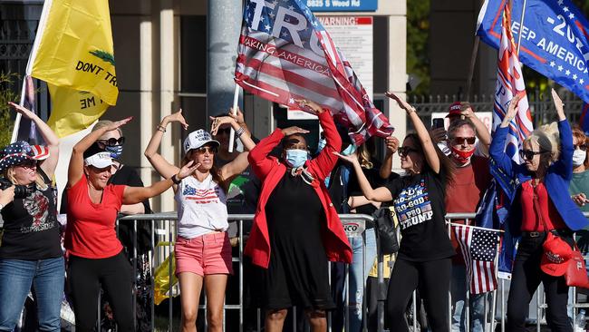
[[[36,189],[2,209],[0,259],[54,259],[63,255],[57,222],[57,189],[41,171],[46,190]]]

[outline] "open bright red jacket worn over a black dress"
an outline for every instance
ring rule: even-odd
[[[325,132],[326,146],[311,161],[306,161],[307,171],[314,176],[311,185],[321,200],[326,216],[326,227],[323,227],[322,239],[327,259],[332,261],[352,262],[352,248],[343,231],[342,221],[333,208],[332,200],[325,188],[324,179],[332,171],[337,156],[333,151],[340,151],[342,139],[335,129],[333,117],[325,110],[319,114],[319,122]],[[247,239],[245,253],[252,258],[254,264],[268,268],[270,263],[270,237],[266,224],[266,202],[270,193],[286,173],[286,165],[275,157],[268,156],[277,144],[285,137],[281,130],[276,129],[270,136],[257,143],[256,148],[249,152],[248,160],[257,177],[262,181],[262,191],[257,201],[254,225]]]

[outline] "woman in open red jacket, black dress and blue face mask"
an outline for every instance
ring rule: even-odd
[[[297,101],[319,117],[327,145],[313,160],[298,127],[275,130],[248,159],[262,192],[246,244],[246,255],[261,269],[266,331],[282,331],[286,309],[304,308],[312,331],[325,331],[325,310],[334,308],[328,260],[350,263],[352,249],[323,183],[340,151],[332,115],[319,105]],[[281,158],[268,154],[282,142]]]

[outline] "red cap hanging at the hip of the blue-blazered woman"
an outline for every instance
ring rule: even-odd
[[[573,256],[573,249],[565,240],[548,233],[548,237],[542,245],[544,252],[542,253],[542,262],[540,269],[547,275],[560,277],[565,275],[568,267],[568,260]]]

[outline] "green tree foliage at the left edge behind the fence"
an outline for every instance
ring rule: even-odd
[[[14,128],[14,112],[10,110],[8,102],[19,100],[15,93],[15,84],[19,82],[18,73],[0,72],[0,147],[10,143]]]

